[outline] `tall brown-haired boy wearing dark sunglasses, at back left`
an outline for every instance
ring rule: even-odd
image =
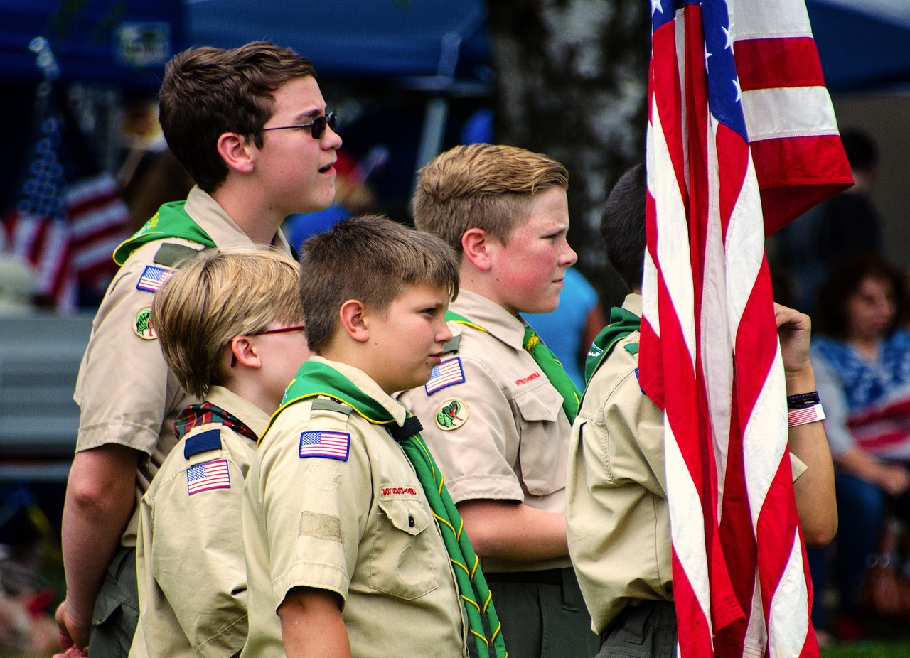
[[[168,145],[196,180],[116,250],[123,267],[98,309],[76,382],[81,409],[63,518],[64,636],[93,658],[126,656],[136,625],[136,501],[176,442],[187,395],[149,312],[175,263],[203,246],[274,246],[293,212],[334,196],[341,140],[308,60],[257,42],[174,57],[161,88]],[[94,611],[94,612],[93,612]]]

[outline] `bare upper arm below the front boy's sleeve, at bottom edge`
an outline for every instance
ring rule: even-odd
[[[335,592],[297,587],[278,606],[288,658],[351,658],[348,629]]]

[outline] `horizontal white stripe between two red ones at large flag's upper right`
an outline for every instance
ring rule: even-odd
[[[838,134],[834,106],[824,86],[744,91],[743,115],[750,142]]]

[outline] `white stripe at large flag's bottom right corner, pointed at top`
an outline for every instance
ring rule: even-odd
[[[809,591],[803,571],[803,547],[794,531],[793,548],[768,613],[770,658],[798,658],[809,633]]]

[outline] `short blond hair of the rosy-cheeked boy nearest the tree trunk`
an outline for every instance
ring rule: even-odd
[[[569,172],[541,153],[490,144],[454,147],[420,169],[414,224],[459,255],[469,228],[505,243],[530,213],[533,195],[550,187],[568,189]]]

